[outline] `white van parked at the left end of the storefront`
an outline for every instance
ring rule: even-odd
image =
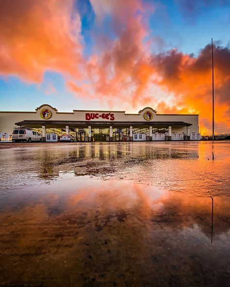
[[[29,128],[15,128],[12,135],[12,141],[17,142],[42,142],[42,135]]]

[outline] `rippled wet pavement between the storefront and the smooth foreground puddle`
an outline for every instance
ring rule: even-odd
[[[17,146],[17,144],[15,144]],[[0,150],[0,192],[65,173],[127,179],[170,191],[230,196],[230,142],[24,144]]]

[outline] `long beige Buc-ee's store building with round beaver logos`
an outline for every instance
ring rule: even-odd
[[[35,112],[0,112],[0,132],[8,135],[16,127],[47,134],[72,134],[78,142],[197,140],[197,114],[158,114],[152,108],[138,113],[123,111],[58,112],[42,105]]]

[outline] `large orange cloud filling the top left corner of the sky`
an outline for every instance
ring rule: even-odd
[[[73,0],[1,1],[0,19],[1,74],[33,82],[46,70],[80,76],[81,19]]]

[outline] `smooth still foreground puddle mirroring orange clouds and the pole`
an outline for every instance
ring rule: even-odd
[[[66,176],[0,197],[3,286],[226,286],[230,201]],[[5,284],[5,285],[4,285]]]

